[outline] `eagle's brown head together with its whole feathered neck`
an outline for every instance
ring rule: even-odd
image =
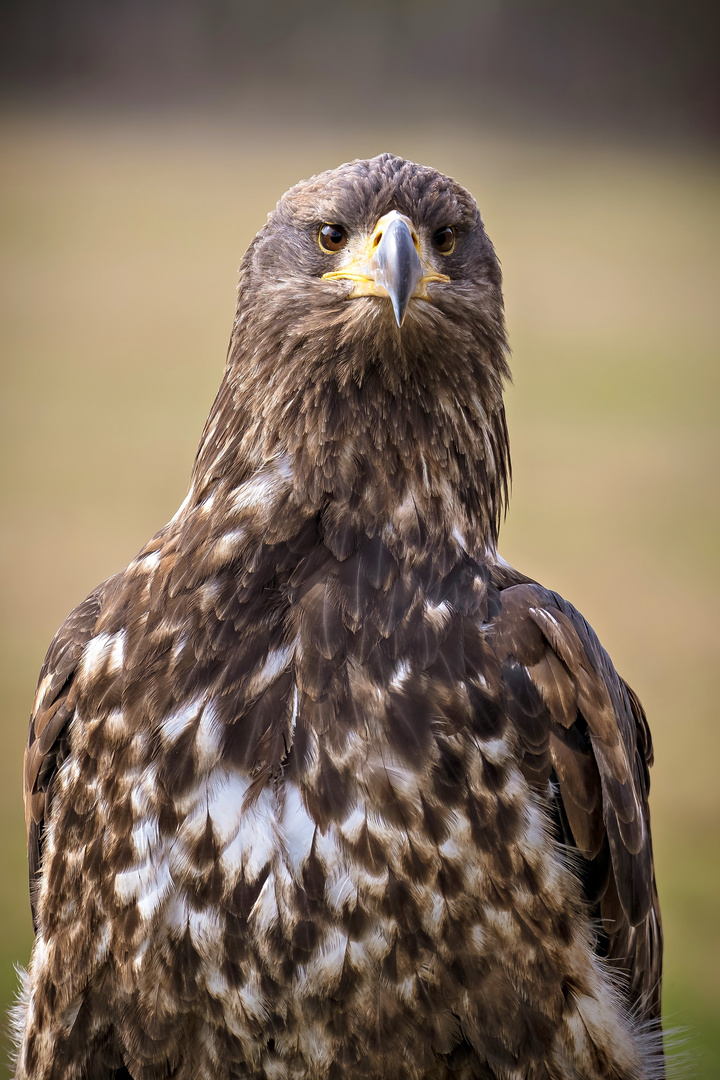
[[[383,153],[290,188],[242,261],[196,488],[230,444],[247,468],[286,456],[311,502],[390,470],[400,498],[449,482],[492,542],[510,475],[501,286],[475,200],[434,168]]]

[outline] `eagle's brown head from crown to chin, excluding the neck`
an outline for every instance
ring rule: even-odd
[[[241,318],[248,292],[310,309],[321,333],[381,337],[398,350],[447,335],[461,313],[503,334],[500,264],[475,200],[390,153],[290,188],[243,260]]]

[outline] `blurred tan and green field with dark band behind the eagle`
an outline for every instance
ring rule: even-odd
[[[688,1075],[720,1075],[719,10],[2,4],[3,1014],[31,946],[21,762],[50,639],[182,499],[268,211],[392,150],[474,192],[503,262],[501,551],[647,706],[665,1021]]]

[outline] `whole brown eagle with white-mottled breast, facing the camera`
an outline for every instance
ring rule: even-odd
[[[664,1075],[648,723],[498,554],[501,286],[390,153],[252,241],[187,498],[40,674],[17,1080]]]

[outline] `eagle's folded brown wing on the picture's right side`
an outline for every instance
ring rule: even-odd
[[[660,1016],[663,943],[646,716],[582,616],[556,593],[515,582],[507,573],[498,582],[493,640],[524,771],[554,793],[558,834],[582,855],[579,875],[602,928],[599,950],[625,973],[631,1003]]]

